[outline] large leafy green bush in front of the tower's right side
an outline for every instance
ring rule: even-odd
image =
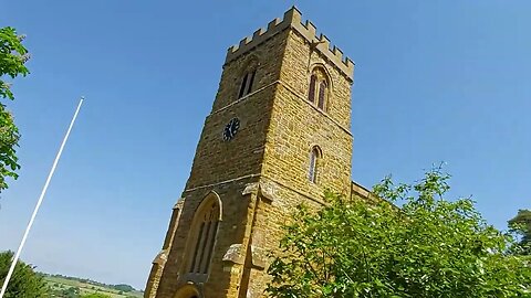
[[[531,260],[510,254],[512,234],[486,224],[469,199],[447,201],[449,175],[415,184],[391,178],[383,200],[327,193],[299,206],[268,269],[272,297],[531,297]],[[392,203],[400,203],[397,209]]]

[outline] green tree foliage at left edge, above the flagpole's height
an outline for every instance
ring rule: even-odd
[[[25,62],[29,60],[28,50],[23,46],[24,36],[18,35],[13,28],[0,28],[0,98],[13,100],[11,84],[6,77],[15,78],[29,74]],[[15,148],[19,145],[20,134],[14,125],[11,113],[0,103],[0,192],[8,188],[7,177],[18,178],[15,171],[20,169]]]

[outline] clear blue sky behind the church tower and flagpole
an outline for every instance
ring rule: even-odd
[[[293,3],[356,63],[355,181],[446,161],[450,194],[497,227],[531,207],[530,1],[3,1],[32,73],[8,103],[22,170],[0,199],[0,249],[18,246],[84,95],[22,257],[144,288],[227,47]]]

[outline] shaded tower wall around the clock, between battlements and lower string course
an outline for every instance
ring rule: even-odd
[[[219,91],[212,111],[205,120],[186,189],[260,173],[285,34],[280,32],[257,51],[223,66]],[[259,63],[256,82],[251,93],[238,99],[250,58]],[[225,126],[233,117],[239,118],[240,129],[233,140],[223,141]]]

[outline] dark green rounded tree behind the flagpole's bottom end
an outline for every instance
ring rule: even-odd
[[[0,285],[3,285],[13,259],[12,252],[0,253]],[[34,267],[18,262],[8,285],[4,298],[41,298],[48,297],[49,288]]]

